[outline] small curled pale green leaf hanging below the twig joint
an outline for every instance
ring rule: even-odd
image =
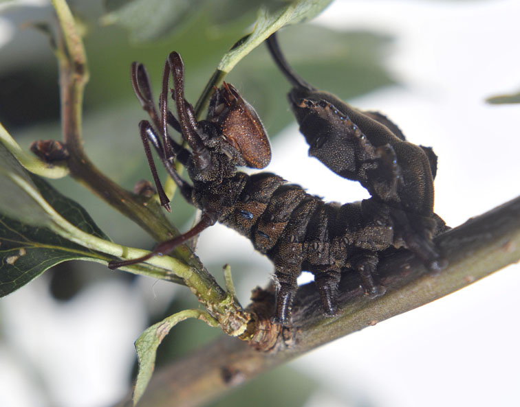
[[[136,340],[136,351],[138,353],[139,371],[136,386],[133,389],[133,405],[135,406],[142,397],[144,390],[150,381],[153,369],[155,368],[155,355],[157,348],[164,336],[168,335],[170,329],[177,323],[187,318],[197,318],[211,327],[217,327],[218,321],[203,310],[184,310],[165,318],[164,320],[146,329]]]

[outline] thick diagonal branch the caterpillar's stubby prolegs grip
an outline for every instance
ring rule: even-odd
[[[380,262],[387,293],[363,295],[354,273],[340,282],[339,314],[324,318],[314,283],[300,288],[293,323],[272,325],[274,292],[257,288],[250,310],[258,316],[250,342],[228,336],[158,371],[139,406],[200,406],[252,377],[320,345],[412,310],[490,275],[520,259],[520,197],[472,218],[436,238],[448,267],[427,272],[407,251]],[[129,403],[122,402],[120,406]]]

